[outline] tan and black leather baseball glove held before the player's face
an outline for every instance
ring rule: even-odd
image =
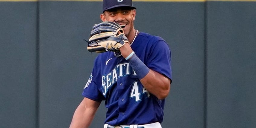
[[[123,29],[116,22],[101,22],[92,27],[87,50],[103,53],[107,51],[120,52],[119,48],[129,43]],[[129,43],[130,44],[130,43]]]

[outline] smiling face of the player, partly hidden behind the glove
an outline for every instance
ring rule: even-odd
[[[129,35],[134,32],[133,22],[135,20],[135,16],[136,10],[119,7],[104,11],[104,13],[101,14],[101,20],[116,21],[124,30],[126,37],[129,37]]]

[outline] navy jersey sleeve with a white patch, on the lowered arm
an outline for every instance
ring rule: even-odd
[[[97,65],[97,64],[99,64],[99,63],[97,63],[97,58],[95,59],[94,68],[93,68],[92,73],[84,87],[82,95],[84,97],[89,98],[94,101],[103,101],[103,100],[105,100],[105,98],[100,91],[101,77],[99,75],[100,74],[99,71],[97,70],[98,68],[96,68],[96,67],[100,67]]]

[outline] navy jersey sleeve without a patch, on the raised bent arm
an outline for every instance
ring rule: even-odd
[[[172,80],[171,75],[171,50],[168,44],[161,37],[153,40],[149,48],[147,66]]]

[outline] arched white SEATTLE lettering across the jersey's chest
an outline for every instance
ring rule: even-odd
[[[110,88],[115,82],[117,82],[118,78],[126,75],[137,75],[130,66],[130,63],[120,63],[107,75],[102,75],[101,82],[103,95],[106,95],[108,88]]]

